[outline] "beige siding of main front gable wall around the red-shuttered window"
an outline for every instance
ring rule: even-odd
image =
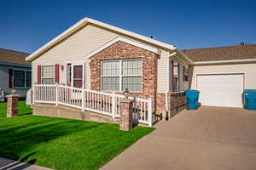
[[[66,84],[66,63],[67,61],[84,61],[85,65],[85,86],[90,88],[90,65],[89,59],[86,59],[86,54],[103,44],[118,37],[117,34],[104,30],[102,28],[87,25],[75,32],[72,36],[67,37],[64,41],[58,43],[53,48],[50,48],[44,54],[32,60],[32,80],[37,82],[37,65],[64,65],[63,71],[60,71],[60,82]]]

